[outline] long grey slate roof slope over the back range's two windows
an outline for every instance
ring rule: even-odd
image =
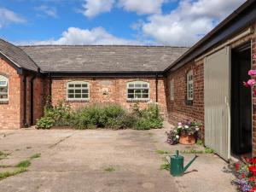
[[[131,45],[20,46],[43,72],[163,72],[188,48]]]

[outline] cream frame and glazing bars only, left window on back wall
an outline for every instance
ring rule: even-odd
[[[74,84],[74,87],[69,87],[70,84]],[[75,84],[81,84],[81,87],[75,87]],[[83,87],[83,84],[86,84],[86,87]],[[85,81],[69,81],[67,82],[67,101],[73,101],[73,102],[86,102],[90,100],[90,84]],[[68,90],[74,90],[73,93],[69,93]],[[75,90],[81,90],[81,98],[75,98]],[[84,93],[84,95],[88,95],[88,98],[82,98],[83,90],[88,90],[87,93]],[[69,95],[74,95],[73,98],[69,98]]]

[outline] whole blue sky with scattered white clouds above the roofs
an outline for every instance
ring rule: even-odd
[[[244,2],[0,0],[0,38],[15,44],[190,46]]]

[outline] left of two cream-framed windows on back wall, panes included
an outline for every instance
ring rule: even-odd
[[[88,101],[90,99],[89,84],[84,81],[71,81],[67,83],[68,101]]]

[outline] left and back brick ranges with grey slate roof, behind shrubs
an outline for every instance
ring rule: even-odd
[[[117,103],[128,110],[159,103],[167,116],[163,72],[187,48],[20,46],[0,40],[0,127],[34,125],[47,97],[72,108]],[[15,115],[14,115],[15,114]]]

